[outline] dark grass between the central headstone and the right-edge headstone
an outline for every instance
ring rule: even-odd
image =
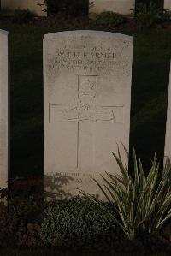
[[[171,32],[134,34],[131,147],[149,167],[156,152],[162,164],[171,57]]]

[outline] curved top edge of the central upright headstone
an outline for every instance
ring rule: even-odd
[[[125,39],[127,41],[133,42],[132,36],[128,36],[121,33],[112,33],[112,32],[97,31],[97,30],[74,30],[74,31],[63,31],[63,32],[57,32],[57,33],[48,33],[48,34],[44,34],[44,40],[57,39],[61,37],[74,36],[74,35],[76,36],[92,36],[93,35],[94,37],[101,36],[102,38],[113,37],[115,39]]]

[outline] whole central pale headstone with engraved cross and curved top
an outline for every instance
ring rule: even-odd
[[[44,36],[44,188],[100,194],[92,178],[119,173],[129,148],[132,37],[73,31]],[[122,155],[123,157],[125,155]],[[127,157],[123,158],[127,163]]]

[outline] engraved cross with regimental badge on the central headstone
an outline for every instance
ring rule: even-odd
[[[77,122],[77,165],[79,167],[80,147],[80,122],[89,120],[92,122],[124,122],[124,106],[98,106],[96,104],[97,76],[78,76],[78,92],[75,103],[71,106],[62,104],[49,104],[51,108],[57,108],[58,121]],[[116,112],[116,115],[115,115]],[[49,110],[50,115],[50,110]],[[116,120],[115,120],[116,119]],[[49,116],[50,122],[50,116]]]

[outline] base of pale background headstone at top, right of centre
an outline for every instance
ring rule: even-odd
[[[114,11],[122,15],[130,15],[135,7],[135,0],[89,0],[90,13]]]

